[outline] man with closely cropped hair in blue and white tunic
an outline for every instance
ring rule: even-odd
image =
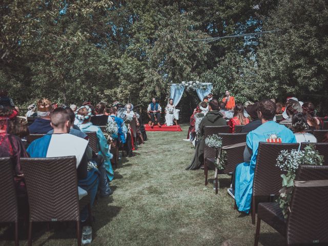
[[[34,158],[75,156],[78,186],[90,194],[92,206],[98,189],[98,171],[94,168],[88,171],[88,141],[68,134],[70,117],[62,108],[53,111],[51,125],[53,134],[46,134],[31,142],[27,152]],[[88,210],[84,208],[80,215],[81,221],[87,220],[87,217]]]

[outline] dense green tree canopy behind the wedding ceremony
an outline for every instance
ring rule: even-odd
[[[295,95],[328,105],[327,13],[324,0],[4,0],[0,83],[19,105],[146,105],[168,99],[171,81],[196,79],[241,102]]]

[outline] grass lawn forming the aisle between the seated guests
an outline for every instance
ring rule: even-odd
[[[95,203],[93,245],[254,245],[251,216],[233,209],[227,193],[230,177],[221,175],[219,194],[214,172],[204,186],[203,170],[186,171],[192,145],[183,132],[148,132],[136,156],[124,158],[115,170],[112,196]],[[33,245],[74,245],[73,224],[54,223],[49,232],[40,224]],[[0,245],[13,245],[12,231],[0,230]],[[20,245],[27,245],[21,232]],[[260,245],[282,245],[284,239],[262,223]]]

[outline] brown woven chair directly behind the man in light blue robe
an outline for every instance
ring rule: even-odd
[[[257,161],[254,172],[252,194],[252,223],[255,224],[257,209],[256,197],[268,197],[273,201],[279,195],[281,189],[281,177],[283,172],[276,167],[277,157],[281,150],[298,149],[299,144],[274,144],[260,142],[257,152]]]

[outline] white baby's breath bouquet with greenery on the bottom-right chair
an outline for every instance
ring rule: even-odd
[[[282,188],[280,189],[278,203],[284,218],[288,217],[289,205],[294,190],[294,179],[299,165],[322,166],[323,156],[315,150],[315,145],[309,145],[304,150],[282,150],[277,157],[276,166],[286,174],[281,174]]]

